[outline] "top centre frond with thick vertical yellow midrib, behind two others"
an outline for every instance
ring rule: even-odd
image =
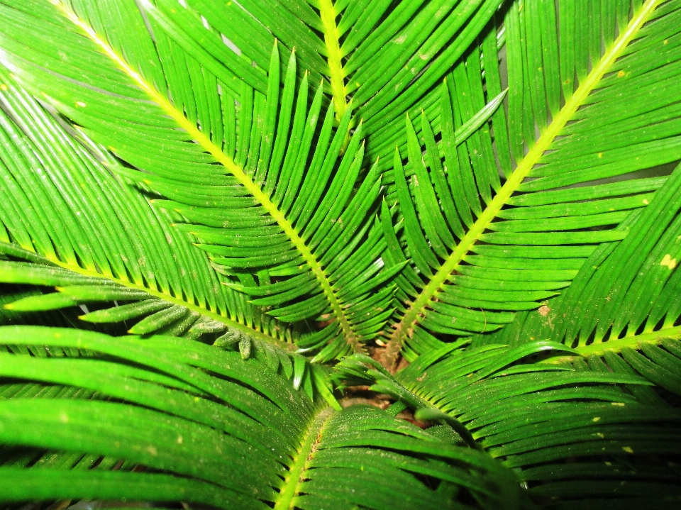
[[[404,143],[406,112],[428,106],[432,87],[463,54],[502,4],[501,0],[210,0],[144,1],[145,10],[183,48],[211,53],[250,86],[265,93],[275,40],[284,58],[295,51],[314,82],[328,80],[336,120],[353,110],[365,121],[374,161]],[[223,43],[226,43],[229,48]],[[223,55],[225,52],[230,55]],[[238,62],[238,64],[237,64]],[[254,69],[245,62],[253,62]],[[352,102],[350,103],[350,97]]]

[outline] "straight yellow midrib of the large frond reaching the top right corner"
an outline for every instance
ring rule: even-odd
[[[536,141],[531,150],[520,162],[516,170],[511,174],[502,189],[499,190],[494,199],[489,203],[489,206],[477,218],[472,228],[466,233],[461,242],[456,246],[455,250],[445,260],[441,268],[436,272],[430,282],[423,288],[419,296],[406,309],[402,320],[397,323],[394,328],[387,348],[384,353],[384,360],[389,367],[394,370],[397,357],[402,350],[404,338],[411,336],[419,321],[419,316],[426,310],[428,303],[441,292],[441,286],[450,277],[450,275],[458,268],[463,257],[468,253],[472,245],[480,238],[480,235],[487,229],[492,220],[497,217],[499,211],[507,203],[516,189],[520,186],[523,180],[528,176],[534,165],[538,162],[541,155],[548,149],[556,136],[560,134],[568,121],[575,114],[577,109],[585,104],[585,99],[591,94],[596,84],[602,79],[603,75],[608,72],[613,62],[619,57],[620,53],[626,45],[628,45],[633,36],[641,29],[644,23],[648,20],[650,13],[655,9],[661,0],[648,0],[641,7],[641,10],[636,13],[626,30],[619,34],[611,47],[606,50],[597,65],[595,65],[591,72],[587,74],[586,79],[580,87],[577,88],[572,97],[568,99],[558,115],[553,118],[553,122],[548,126],[546,131]]]

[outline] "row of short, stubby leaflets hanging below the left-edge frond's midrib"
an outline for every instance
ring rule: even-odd
[[[142,287],[118,284],[115,280],[81,275],[53,265],[33,253],[26,253],[12,245],[0,245],[0,253],[13,257],[31,257],[31,262],[0,261],[0,282],[33,285],[20,292],[4,294],[2,324],[36,324],[49,326],[111,326],[120,324],[111,333],[140,336],[177,336],[192,340],[213,341],[219,347],[236,350],[243,359],[254,357],[264,362],[273,372],[291,379],[295,389],[301,389],[312,399],[319,394],[335,402],[331,386],[326,382],[326,370],[321,365],[310,365],[297,353],[295,346],[276,337],[258,335],[257,330],[239,323],[226,321],[209,311],[195,311],[184,306],[184,301],[171,299]],[[57,292],[40,292],[45,287]],[[82,309],[82,306],[86,308]],[[90,307],[92,310],[88,309]],[[63,311],[60,317],[53,311]],[[37,312],[40,312],[38,314]],[[52,313],[50,313],[52,312]],[[81,322],[81,321],[84,321]],[[127,326],[133,323],[133,326]],[[40,346],[22,349],[18,353],[44,355]]]

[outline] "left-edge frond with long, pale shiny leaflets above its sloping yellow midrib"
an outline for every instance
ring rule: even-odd
[[[153,309],[135,309],[123,317],[128,320],[161,309],[175,310],[147,332],[167,326],[166,333],[182,334],[193,324],[218,321],[223,328],[274,342],[297,338],[298,333],[226,287],[229,279],[192,248],[187,235],[170,228],[167,217],[128,181],[112,177],[94,155],[104,162],[113,162],[113,157],[89,138],[82,140],[92,153],[85,150],[6,70],[0,70],[0,81],[3,255],[42,265],[43,272],[59,273],[57,279],[65,285],[104,285],[111,292],[118,289],[127,294],[131,301],[156,299]],[[6,265],[3,282],[18,282],[12,267],[19,266]],[[58,284],[41,283],[37,276],[25,283]],[[121,299],[113,294],[106,297],[105,287],[93,289],[100,295],[96,301]],[[36,301],[33,310],[73,304],[65,294],[45,296],[42,301],[43,306],[35,306]]]

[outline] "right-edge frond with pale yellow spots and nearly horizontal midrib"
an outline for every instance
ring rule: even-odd
[[[677,167],[631,222],[626,239],[594,251],[570,289],[538,311],[518,314],[498,333],[473,337],[472,345],[548,338],[589,356],[596,366],[638,373],[681,394],[680,190]]]

